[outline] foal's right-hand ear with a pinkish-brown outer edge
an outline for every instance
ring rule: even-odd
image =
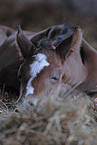
[[[74,33],[64,39],[57,47],[56,52],[62,59],[67,59],[73,52],[77,51],[82,42],[82,32],[80,27],[75,27]]]

